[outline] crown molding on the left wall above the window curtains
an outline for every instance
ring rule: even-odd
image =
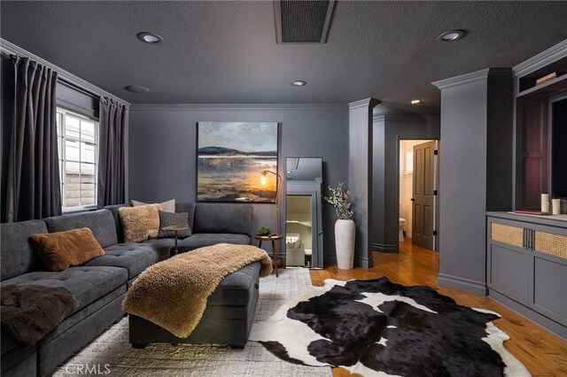
[[[92,95],[107,96],[119,101],[122,104],[126,104],[127,106],[130,105],[127,101],[124,101],[119,96],[114,96],[112,93],[109,93],[104,89],[98,88],[96,85],[91,84],[89,81],[82,80],[82,78],[75,76],[73,73],[67,72],[58,65],[54,65],[48,62],[47,60],[40,58],[37,55],[34,55],[31,52],[24,50],[19,46],[16,46],[12,42],[6,41],[3,38],[0,38],[0,51],[8,56],[18,55],[19,57],[30,58],[42,65],[49,66],[51,69],[57,71],[59,80],[66,81],[82,90],[89,92]]]

